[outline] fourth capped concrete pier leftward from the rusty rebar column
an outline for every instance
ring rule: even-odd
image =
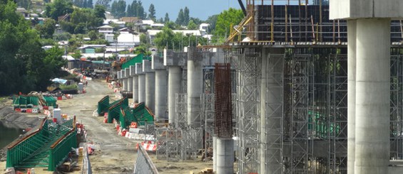
[[[143,72],[146,73],[146,107],[155,112],[155,72],[151,70],[151,62],[143,60]]]

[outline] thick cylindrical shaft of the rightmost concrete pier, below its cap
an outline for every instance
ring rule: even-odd
[[[354,173],[389,165],[390,19],[357,19]]]

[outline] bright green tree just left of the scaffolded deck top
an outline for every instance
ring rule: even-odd
[[[217,23],[215,24],[215,31],[213,33],[213,40],[222,42],[225,36],[230,35],[230,26],[238,25],[244,18],[243,11],[240,9],[228,9],[221,12],[217,16]]]

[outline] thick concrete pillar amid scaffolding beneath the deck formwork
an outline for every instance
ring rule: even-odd
[[[282,170],[281,109],[282,91],[275,72],[282,71],[282,57],[262,54],[260,85],[260,173]]]

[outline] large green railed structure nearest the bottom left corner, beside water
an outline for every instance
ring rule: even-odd
[[[7,147],[6,167],[55,170],[77,147],[75,123],[75,119],[63,124],[44,119],[39,129]]]

